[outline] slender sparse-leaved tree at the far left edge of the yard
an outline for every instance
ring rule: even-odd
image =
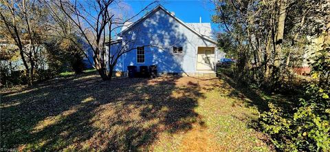
[[[29,78],[29,85],[34,82],[34,72],[38,67],[37,56],[41,43],[41,33],[45,32],[43,21],[46,20],[45,11],[37,1],[1,0],[0,25],[8,39],[17,45],[21,60]]]

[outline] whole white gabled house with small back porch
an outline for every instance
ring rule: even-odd
[[[157,6],[134,23],[125,23],[111,54],[118,49],[131,50],[119,59],[115,72],[127,72],[127,66],[157,65],[160,74],[188,76],[214,74],[214,65],[225,54],[212,39],[210,23],[184,23],[162,6]],[[109,43],[108,43],[109,44]]]

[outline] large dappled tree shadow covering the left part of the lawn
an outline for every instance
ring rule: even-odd
[[[159,133],[203,124],[194,111],[199,85],[178,79],[104,82],[88,73],[1,92],[1,149],[148,150]]]

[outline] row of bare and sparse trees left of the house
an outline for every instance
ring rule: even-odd
[[[50,75],[63,71],[65,65],[81,73],[87,50],[93,54],[89,63],[94,63],[103,80],[109,80],[118,58],[133,49],[122,47],[109,54],[105,49],[106,42],[118,34],[124,23],[132,21],[154,3],[157,1],[129,15],[123,13],[125,6],[121,1],[114,0],[1,0],[1,39],[14,44],[11,50],[19,52],[29,85],[39,79],[36,76],[44,75],[39,72],[45,71],[39,66],[42,60],[49,65]],[[41,50],[45,52],[41,54]],[[10,56],[12,52],[2,49],[1,54]],[[3,71],[8,69],[2,65],[1,68],[5,69]]]

